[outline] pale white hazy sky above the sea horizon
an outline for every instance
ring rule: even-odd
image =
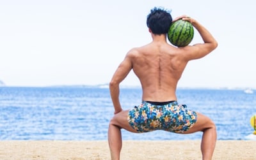
[[[178,87],[256,88],[256,1],[0,1],[0,80],[7,86],[108,84],[133,47],[152,41],[150,9],[204,25],[218,48],[190,61]],[[202,43],[195,31],[191,45]],[[121,85],[140,85],[131,73]]]

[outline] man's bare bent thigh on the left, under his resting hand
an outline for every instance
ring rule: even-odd
[[[128,122],[128,112],[129,110],[124,110],[122,112],[116,113],[113,119],[111,120],[111,123],[120,128],[124,128],[127,131],[137,133],[137,131],[133,129]]]

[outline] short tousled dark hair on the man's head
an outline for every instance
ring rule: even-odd
[[[147,26],[153,34],[166,34],[172,24],[170,11],[153,8],[147,16]]]

